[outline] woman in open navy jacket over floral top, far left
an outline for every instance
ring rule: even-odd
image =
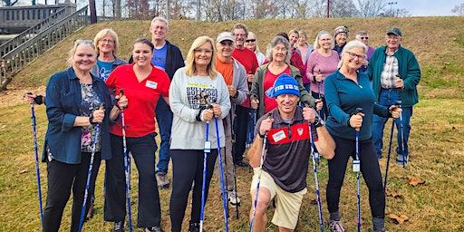
[[[43,212],[45,232],[59,230],[71,190],[71,231],[78,230],[93,144],[94,161],[111,159],[109,123],[118,117],[119,108],[113,106],[105,83],[91,73],[96,58],[91,40],[75,41],[68,60],[70,67],[54,73],[46,87],[49,123],[43,150],[48,183]],[[127,100],[123,97],[118,103],[124,107]],[[96,130],[97,124],[100,130]],[[92,179],[97,173],[98,169],[92,169]]]

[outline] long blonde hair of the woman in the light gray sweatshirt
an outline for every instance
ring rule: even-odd
[[[207,72],[211,79],[215,79],[218,76],[218,71],[216,71],[216,46],[214,40],[211,37],[206,35],[199,36],[195,41],[193,41],[192,46],[187,53],[187,59],[185,61],[185,73],[187,76],[193,76],[197,73],[195,66],[195,49],[202,46],[205,43],[211,44],[211,62],[208,63]]]

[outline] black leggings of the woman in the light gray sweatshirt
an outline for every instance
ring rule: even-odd
[[[190,189],[192,189],[192,209],[190,222],[199,222],[201,212],[201,189],[203,185],[203,150],[170,150],[172,159],[172,193],[169,202],[171,231],[181,231],[187,208]],[[205,205],[208,189],[213,177],[218,150],[211,150],[207,160],[207,183],[205,186]]]

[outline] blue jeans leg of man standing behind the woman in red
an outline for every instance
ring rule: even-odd
[[[160,128],[161,143],[160,143],[160,160],[156,165],[157,172],[168,173],[169,165],[169,139],[170,139],[170,128],[172,126],[172,111],[170,111],[169,105],[164,102],[164,99],[160,98],[158,105],[156,106],[156,121],[158,121],[158,127]]]

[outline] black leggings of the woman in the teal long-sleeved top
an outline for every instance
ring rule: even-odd
[[[327,207],[330,213],[338,211],[340,190],[343,186],[346,164],[350,156],[354,159],[356,155],[354,140],[345,140],[336,136],[333,136],[333,140],[335,140],[337,147],[333,159],[328,160],[329,181],[326,189]],[[372,139],[360,141],[359,152],[362,177],[369,189],[369,204],[371,206],[372,218],[384,218],[385,195],[383,191],[382,174]],[[349,169],[351,170],[352,167]],[[354,192],[350,194],[350,196],[354,198]]]

